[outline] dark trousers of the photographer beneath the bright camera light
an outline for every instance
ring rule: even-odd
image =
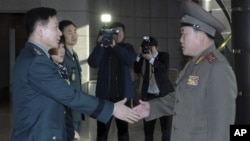
[[[118,141],[129,141],[128,134],[128,123],[122,120],[115,118],[116,127],[118,129]],[[107,141],[108,133],[112,118],[108,121],[107,124],[97,121],[97,139],[96,141]]]

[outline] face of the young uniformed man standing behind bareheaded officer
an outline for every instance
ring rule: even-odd
[[[68,25],[63,29],[63,35],[65,37],[66,46],[74,46],[77,43],[78,34],[74,25]]]

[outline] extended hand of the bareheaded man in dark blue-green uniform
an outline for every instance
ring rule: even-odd
[[[139,115],[135,110],[130,109],[125,105],[127,98],[116,102],[114,105],[113,115],[121,120],[124,120],[128,123],[135,123],[139,120]]]

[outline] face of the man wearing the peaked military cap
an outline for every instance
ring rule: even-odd
[[[180,30],[180,43],[183,55],[197,56],[201,52],[200,31],[195,31],[190,26],[183,26]]]

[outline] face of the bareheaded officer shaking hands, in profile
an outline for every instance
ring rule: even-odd
[[[47,50],[57,48],[62,32],[58,28],[58,20],[55,16],[49,18],[47,25],[39,25],[41,44]]]

